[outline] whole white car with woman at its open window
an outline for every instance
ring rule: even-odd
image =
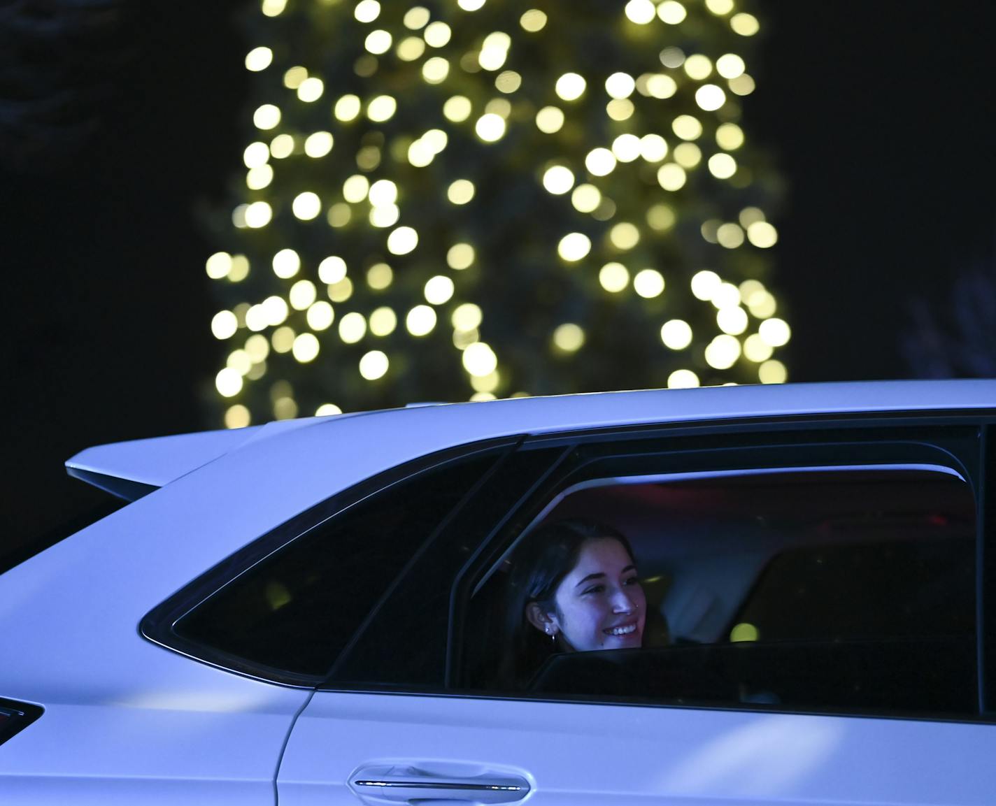
[[[996,381],[429,405],[67,466],[130,503],[0,575],[4,806],[996,803]],[[601,536],[523,599],[565,521]]]

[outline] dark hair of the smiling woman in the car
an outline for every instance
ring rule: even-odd
[[[618,530],[595,520],[570,518],[544,523],[527,534],[512,555],[506,596],[505,647],[502,683],[521,689],[554,652],[556,645],[526,618],[530,602],[553,612],[561,580],[578,564],[588,540],[618,540],[635,563],[632,546]]]

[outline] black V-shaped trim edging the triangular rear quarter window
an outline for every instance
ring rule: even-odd
[[[152,608],[141,619],[138,623],[138,634],[153,644],[217,669],[267,683],[292,688],[314,689],[322,683],[325,679],[324,676],[303,675],[252,662],[183,638],[174,631],[173,627],[191,610],[220,592],[267,557],[283,550],[299,537],[356,504],[361,504],[372,496],[383,493],[402,482],[454,462],[471,459],[485,453],[494,453],[495,463],[498,464],[500,459],[514,451],[522,440],[522,435],[514,435],[447,448],[398,465],[334,494],[292,516],[275,529],[251,541],[191,580],[168,599]],[[485,475],[490,474],[493,470],[494,466]],[[476,489],[476,485],[474,489]],[[463,502],[457,504],[457,508],[462,504]]]

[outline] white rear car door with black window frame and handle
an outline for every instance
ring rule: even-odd
[[[985,662],[990,642],[984,634],[990,622],[975,617],[987,606],[975,580],[991,573],[982,551],[982,435],[977,423],[935,417],[915,423],[865,418],[634,429],[531,441],[507,458],[448,529],[425,547],[303,708],[278,773],[282,806],[526,798],[548,806],[991,803],[996,725],[989,723],[984,685],[991,678]],[[786,475],[799,486],[794,496],[786,495]],[[718,500],[716,492],[729,493],[732,488],[723,485],[742,487],[747,477],[760,480],[751,483],[752,490],[772,507],[752,521],[763,539],[754,540],[754,532],[724,534],[715,551],[699,552],[689,576],[682,552],[695,548],[708,532],[694,531],[695,513],[699,520],[718,522],[710,504]],[[696,484],[706,488],[690,486]],[[666,562],[675,578],[687,577],[691,587],[734,580],[716,583],[719,595],[706,605],[694,591],[678,602],[680,586],[672,585],[668,596],[676,604],[668,616],[687,633],[687,644],[675,643],[659,656],[680,672],[682,658],[712,653],[726,659],[720,667],[730,667],[727,661],[734,654],[753,653],[762,667],[770,666],[762,673],[778,681],[773,688],[784,686],[795,695],[777,702],[764,691],[745,692],[741,683],[739,694],[706,703],[695,696],[661,695],[652,681],[645,690],[633,688],[649,680],[639,677],[642,673],[618,689],[607,684],[596,692],[569,691],[581,679],[569,675],[566,689],[512,692],[467,672],[468,653],[483,651],[487,657],[487,648],[501,641],[493,623],[472,612],[475,595],[487,589],[487,574],[494,578],[519,535],[558,506],[563,509],[572,495],[609,485],[620,488],[617,498],[623,502],[634,500],[623,495],[632,491],[664,490],[672,501],[689,501],[706,490],[705,504],[693,507],[682,521],[691,524],[694,539],[665,541],[671,552]],[[949,488],[953,499],[944,492]],[[821,494],[828,490],[836,491],[837,508],[807,517],[810,508],[820,509]],[[854,495],[869,500],[855,508],[848,504]],[[923,504],[923,499],[938,503]],[[955,500],[948,508],[968,521],[961,522],[957,539],[935,539],[953,534],[943,502]],[[801,504],[793,509],[786,501]],[[589,497],[579,505],[597,508],[604,502]],[[876,613],[886,615],[870,618],[867,631],[861,624],[847,626],[856,621],[849,622],[847,602],[845,617],[834,626],[831,616],[840,603],[831,607],[818,601],[803,629],[831,632],[814,633],[813,641],[792,639],[788,627],[785,635],[792,640],[757,643],[746,654],[734,646],[732,633],[729,641],[702,639],[704,633],[698,636],[702,640],[693,640],[709,614],[725,614],[713,619],[722,632],[745,614],[777,613],[778,600],[773,607],[765,591],[790,591],[782,610],[796,607],[803,601],[800,591],[818,589],[819,580],[809,585],[800,577],[799,585],[786,585],[777,581],[778,574],[792,578],[799,568],[826,566],[828,557],[834,565],[833,550],[814,553],[813,545],[824,545],[820,535],[828,529],[842,534],[853,528],[855,518],[849,517],[854,512],[861,514],[857,519],[864,536],[838,541],[846,560],[837,562],[837,576],[824,588],[846,587],[852,576],[871,579],[862,601],[881,603]],[[784,523],[772,530],[775,515]],[[833,521],[829,527],[828,520]],[[907,526],[915,532],[908,539]],[[930,531],[934,528],[938,531]],[[797,534],[810,535],[806,539],[812,537],[812,545],[792,543]],[[751,551],[724,562],[741,543]],[[930,585],[922,585],[921,577],[906,578],[903,563],[911,560],[903,557],[914,555],[916,573]],[[750,557],[757,559],[756,567]],[[932,569],[942,566],[954,570],[934,584]],[[754,567],[749,574],[742,570],[748,567]],[[851,574],[851,568],[865,570]],[[875,573],[888,576],[878,580]],[[966,575],[967,585],[952,590]],[[932,599],[917,593],[924,587],[936,589]],[[903,596],[916,601],[907,603]],[[952,606],[960,617],[948,618],[951,608],[943,604],[948,599],[960,603]],[[933,618],[935,612],[942,617]],[[778,619],[772,618],[775,624]],[[916,625],[922,620],[942,626],[920,630]],[[956,622],[961,626],[950,626]],[[955,645],[958,652],[948,649]],[[935,655],[924,655],[925,647]],[[634,655],[653,656],[646,653]],[[574,655],[567,660],[588,660],[581,657],[586,653]],[[948,663],[954,655],[960,660]],[[936,674],[935,656],[942,667]],[[819,665],[838,657],[844,658],[847,685],[835,689],[836,672],[824,674]],[[694,688],[695,667],[689,669],[685,682]],[[861,671],[852,681],[848,669]],[[807,674],[823,688],[809,691]],[[948,698],[945,687],[957,692]]]

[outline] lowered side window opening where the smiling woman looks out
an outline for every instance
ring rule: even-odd
[[[467,588],[460,688],[655,705],[978,713],[976,504],[958,471],[890,463],[654,475],[636,466],[639,474],[621,473],[622,463],[612,477],[561,489],[482,566]],[[562,539],[551,524],[565,523],[604,532],[603,543],[622,535],[635,571],[593,566],[607,576],[592,601],[565,590],[544,603],[549,619],[531,621],[520,612],[521,588],[539,590],[544,574],[564,570],[537,559],[536,544]],[[577,551],[567,553],[567,565],[577,561]],[[521,565],[541,561],[550,567]]]

